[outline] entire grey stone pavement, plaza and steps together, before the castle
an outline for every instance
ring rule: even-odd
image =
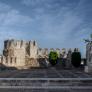
[[[0,72],[0,92],[92,92],[92,74],[82,69],[43,68]]]

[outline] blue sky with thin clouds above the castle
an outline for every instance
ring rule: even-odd
[[[0,0],[0,52],[6,39],[42,48],[75,48],[92,33],[92,0]]]

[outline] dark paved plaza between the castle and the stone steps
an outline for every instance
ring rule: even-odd
[[[4,70],[0,72],[0,78],[92,78],[92,74],[85,73],[82,69],[49,67],[28,70]]]

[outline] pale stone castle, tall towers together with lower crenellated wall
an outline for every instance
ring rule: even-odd
[[[0,56],[0,63],[8,67],[40,67],[39,58],[48,58],[50,51],[57,51],[60,57],[65,49],[39,48],[36,41],[5,40],[3,55]]]

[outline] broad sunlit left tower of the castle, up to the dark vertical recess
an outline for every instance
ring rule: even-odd
[[[3,50],[3,64],[12,67],[25,66],[26,42],[19,40],[6,40]]]

